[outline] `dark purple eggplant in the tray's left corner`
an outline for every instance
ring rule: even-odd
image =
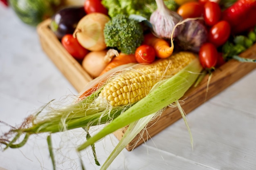
[[[65,7],[52,16],[51,30],[58,39],[72,34],[81,18],[86,15],[84,7]]]

